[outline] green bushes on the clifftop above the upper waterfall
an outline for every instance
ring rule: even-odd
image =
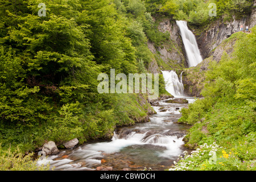
[[[209,22],[218,18],[224,20],[242,18],[250,14],[253,8],[253,0],[145,0],[146,7],[154,14],[167,14],[175,20],[186,20],[192,26],[203,27]],[[210,3],[215,3],[217,16],[209,16],[212,7]]]

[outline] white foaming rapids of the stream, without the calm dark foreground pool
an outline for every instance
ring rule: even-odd
[[[165,102],[161,103],[166,104]],[[175,135],[169,135],[168,131],[175,128],[175,124],[173,122],[165,122],[165,120],[170,118],[170,114],[180,114],[180,111],[175,109],[176,107],[174,105],[168,107],[167,111],[161,112],[159,110],[160,106],[155,106],[154,109],[157,114],[151,117],[150,123],[140,123],[138,126],[131,127],[131,132],[127,134],[126,131],[129,131],[129,129],[121,130],[124,133],[114,133],[112,140],[108,142],[85,144],[75,150],[61,151],[58,155],[39,160],[38,165],[50,164],[50,169],[54,167],[57,171],[90,171],[95,170],[95,166],[101,164],[101,159],[105,155],[120,155],[126,150],[130,152],[131,156],[138,155],[138,158],[143,160],[146,158],[149,161],[148,163],[151,160],[157,163],[158,160],[173,159],[183,152],[180,148],[184,144],[183,137],[178,138]],[[143,146],[152,146],[154,150],[150,149],[152,147],[143,149]],[[139,149],[137,150],[137,148]],[[149,153],[144,154],[147,151]]]

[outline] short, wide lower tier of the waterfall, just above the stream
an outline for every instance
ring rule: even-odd
[[[184,97],[184,86],[182,83],[182,73],[180,79],[175,71],[162,71],[166,90],[174,97]]]

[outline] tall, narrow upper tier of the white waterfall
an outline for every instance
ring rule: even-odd
[[[196,67],[197,64],[203,61],[199,48],[196,42],[196,36],[188,29],[187,22],[182,20],[176,21],[177,26],[180,28],[181,38],[185,47],[188,58],[188,66]]]

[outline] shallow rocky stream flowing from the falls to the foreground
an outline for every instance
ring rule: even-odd
[[[193,98],[186,98],[193,102]],[[177,160],[183,151],[183,138],[190,126],[176,123],[180,109],[187,104],[169,104],[166,100],[153,106],[156,114],[150,122],[118,128],[111,140],[88,142],[73,148],[60,150],[39,163],[49,163],[56,171],[96,170],[112,167],[113,171],[143,170],[151,168],[163,171]]]

